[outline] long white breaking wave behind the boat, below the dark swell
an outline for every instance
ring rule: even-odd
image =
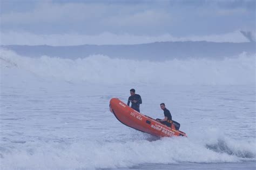
[[[236,58],[168,60],[165,62],[112,59],[94,55],[83,59],[42,56],[29,58],[1,49],[5,79],[14,74],[69,83],[248,85],[255,84],[255,57],[241,53]],[[32,75],[32,76],[31,76]],[[30,78],[24,78],[28,81]]]

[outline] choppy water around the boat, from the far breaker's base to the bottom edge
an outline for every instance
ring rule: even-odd
[[[2,169],[255,168],[254,85],[77,82],[15,64],[1,62]],[[109,100],[125,101],[131,88],[143,114],[163,118],[164,102],[188,138],[119,123]]]

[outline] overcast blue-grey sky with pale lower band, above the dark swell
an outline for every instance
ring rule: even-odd
[[[1,0],[1,44],[247,42],[255,2]]]

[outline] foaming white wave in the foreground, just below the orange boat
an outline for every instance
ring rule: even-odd
[[[12,152],[0,148],[3,168],[118,168],[138,164],[255,161],[255,141],[229,138],[161,138],[127,142],[79,141],[73,144],[26,142]],[[26,145],[24,147],[23,145]],[[25,149],[24,149],[24,148]]]

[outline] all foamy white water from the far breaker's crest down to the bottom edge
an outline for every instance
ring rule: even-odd
[[[165,62],[30,58],[0,49],[1,169],[255,169],[256,55]],[[120,123],[113,97],[165,103],[188,138],[157,138]]]

